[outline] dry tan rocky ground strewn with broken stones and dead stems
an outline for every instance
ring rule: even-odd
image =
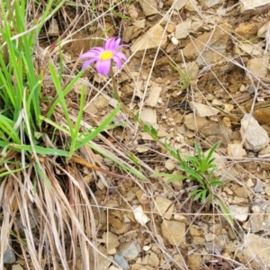
[[[128,62],[117,75],[121,100],[183,157],[193,155],[194,140],[205,151],[220,141],[216,174],[225,184],[216,193],[234,221],[229,224],[219,206],[193,202],[188,181],[104,177],[82,167],[94,193],[96,236],[104,255],[98,255],[98,269],[270,269],[270,1],[114,4],[113,18],[103,22],[107,35],[119,35],[130,45],[123,50]],[[67,14],[76,13],[69,7]],[[49,25],[52,36],[61,33],[56,23]],[[76,41],[63,47],[66,64],[90,49],[102,32],[90,24],[76,32]],[[83,84],[85,115],[96,125],[115,106],[110,78],[89,67]],[[77,85],[74,95],[79,93]],[[119,118],[128,125],[96,143],[116,156],[133,155],[146,175],[181,175],[166,150],[124,113]],[[93,162],[116,170],[99,154],[93,154]],[[84,269],[79,254],[76,264]]]

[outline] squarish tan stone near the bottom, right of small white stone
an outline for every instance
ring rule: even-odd
[[[175,220],[164,220],[161,224],[162,235],[173,246],[185,243],[185,224]]]

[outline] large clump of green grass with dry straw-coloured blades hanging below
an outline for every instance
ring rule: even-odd
[[[70,113],[66,98],[83,72],[64,81],[61,56],[59,63],[50,60],[42,63],[45,68],[36,67],[40,30],[64,2],[40,4],[44,10],[33,21],[29,18],[30,10],[37,7],[34,3],[0,2],[0,254],[15,236],[20,247],[16,251],[25,258],[27,269],[72,269],[78,245],[85,269],[98,269],[97,254],[104,257],[97,249],[89,195],[97,202],[72,157],[90,159],[86,153],[91,148],[146,180],[128,162],[93,141],[108,128],[121,105],[94,128],[84,121],[84,88],[76,116]],[[54,96],[46,92],[45,76]]]

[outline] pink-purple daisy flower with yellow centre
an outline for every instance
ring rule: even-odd
[[[95,68],[99,74],[108,75],[112,60],[115,62],[118,69],[121,69],[122,62],[127,60],[127,57],[119,51],[123,45],[120,45],[121,39],[111,38],[106,41],[104,47],[94,47],[79,58],[85,59],[82,69],[96,62]]]

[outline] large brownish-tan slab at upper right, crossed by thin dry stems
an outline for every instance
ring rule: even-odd
[[[196,58],[196,63],[201,67],[219,62],[226,55],[229,28],[228,23],[223,23],[211,32],[204,32],[184,47],[184,57]]]

